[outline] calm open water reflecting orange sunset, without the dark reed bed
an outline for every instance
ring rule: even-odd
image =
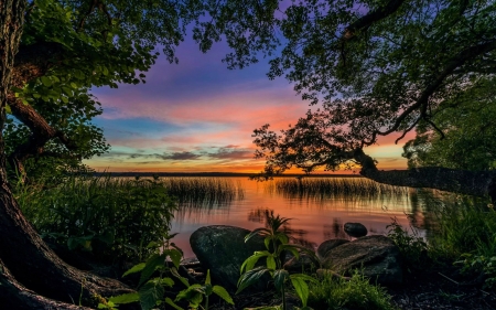
[[[184,250],[185,257],[194,256],[190,235],[206,225],[233,225],[247,229],[263,226],[263,211],[293,218],[289,228],[292,236],[303,243],[317,246],[330,238],[347,238],[343,232],[346,222],[364,224],[369,234],[385,234],[386,226],[397,217],[403,227],[410,227],[406,214],[413,214],[416,225],[421,226],[416,190],[403,189],[396,194],[375,196],[305,197],[288,195],[276,190],[274,181],[256,182],[247,178],[224,178],[233,186],[242,190],[240,197],[228,203],[204,206],[182,205],[175,213],[172,233],[179,233],[174,242]],[[420,233],[424,232],[420,229]]]

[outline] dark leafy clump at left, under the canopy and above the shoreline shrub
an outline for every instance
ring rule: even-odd
[[[85,108],[80,107],[82,101]],[[101,128],[91,124],[91,119],[103,113],[100,104],[86,92],[72,97],[64,106],[37,99],[30,107],[43,116],[51,128],[63,132],[63,139],[56,137],[43,145],[36,131],[18,118],[9,117],[3,130],[6,152],[11,163],[9,177],[57,183],[66,172],[91,171],[82,160],[108,150]],[[42,147],[32,148],[33,140]]]

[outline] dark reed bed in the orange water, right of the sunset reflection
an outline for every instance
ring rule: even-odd
[[[408,195],[409,189],[377,183],[366,178],[276,179],[269,191],[289,199],[392,199]]]

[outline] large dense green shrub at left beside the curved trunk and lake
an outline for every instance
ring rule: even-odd
[[[42,237],[106,263],[148,256],[176,210],[160,180],[71,177],[54,188],[18,184],[14,194]]]

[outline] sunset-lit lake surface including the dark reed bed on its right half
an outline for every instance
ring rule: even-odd
[[[406,214],[412,215],[421,235],[425,233],[414,189],[382,185],[364,178],[276,178],[266,182],[247,178],[211,179],[223,182],[234,194],[224,201],[180,203],[171,233],[179,233],[173,240],[186,258],[194,256],[188,239],[197,228],[206,225],[262,227],[265,210],[293,218],[288,227],[292,237],[314,247],[330,238],[349,238],[343,231],[346,222],[364,224],[369,235],[386,234],[386,226],[393,217],[409,228],[411,223]],[[330,184],[337,184],[341,190],[326,192]],[[363,190],[364,184],[373,184],[373,189]]]

